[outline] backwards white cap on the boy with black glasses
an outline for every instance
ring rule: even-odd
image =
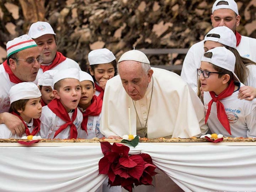
[[[234,79],[240,82],[240,80],[234,73],[235,65],[236,65],[236,57],[231,51],[229,51],[225,47],[215,47],[205,53],[208,53],[208,52],[212,53],[212,58],[203,56],[201,61],[210,62],[211,64],[214,64],[216,66],[222,67],[223,69],[231,71],[234,75]]]

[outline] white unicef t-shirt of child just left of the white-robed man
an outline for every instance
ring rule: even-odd
[[[82,108],[79,108],[79,109],[83,110]],[[84,130],[82,130],[79,138],[82,138],[82,139],[92,139],[94,137],[102,138],[104,135],[102,135],[101,132],[99,131],[100,120],[101,120],[101,113],[98,116],[88,116],[88,122],[87,122],[88,135]]]

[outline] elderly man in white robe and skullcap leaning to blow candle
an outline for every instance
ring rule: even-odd
[[[188,138],[207,131],[204,106],[177,74],[150,68],[138,50],[121,56],[118,72],[104,93],[100,131],[106,137]]]

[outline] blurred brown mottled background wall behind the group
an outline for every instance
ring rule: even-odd
[[[256,38],[256,0],[237,0],[237,31]],[[49,22],[58,51],[87,69],[87,55],[106,47],[117,57],[142,48],[189,48],[212,29],[214,0],[0,0],[0,60],[6,42],[32,23]],[[153,65],[182,64],[185,55],[149,56]],[[172,57],[172,59],[170,59]],[[170,63],[172,62],[172,63]]]

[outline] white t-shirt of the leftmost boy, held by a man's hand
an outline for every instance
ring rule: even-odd
[[[25,122],[25,121],[24,121]],[[33,119],[30,121],[30,123],[25,122],[26,125],[29,128],[29,132],[32,133],[32,131],[34,130],[34,125],[33,125]],[[37,135],[34,136],[39,136],[40,133],[37,133]],[[7,126],[5,124],[0,124],[0,139],[8,139],[8,138],[13,138],[13,139],[20,139],[23,136],[27,136],[26,133],[24,133],[21,137],[16,135],[16,134],[12,134],[12,132],[7,128]]]

